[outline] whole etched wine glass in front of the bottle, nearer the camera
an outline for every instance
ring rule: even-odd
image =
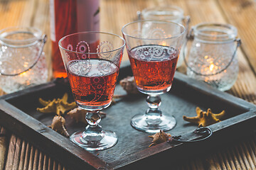
[[[117,143],[117,135],[99,125],[99,112],[112,101],[124,45],[119,35],[94,31],[67,35],[59,41],[75,102],[88,111],[87,127],[71,135],[70,140],[89,151]]]

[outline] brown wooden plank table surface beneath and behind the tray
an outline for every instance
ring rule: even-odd
[[[240,72],[235,85],[226,92],[256,104],[256,1],[101,0],[100,3],[100,30],[118,35],[121,35],[124,24],[137,19],[137,11],[163,4],[183,8],[185,15],[191,16],[191,26],[207,21],[232,24],[238,28],[238,37],[242,40],[242,46],[238,50]],[[35,26],[50,36],[49,19],[49,0],[0,0],[0,29],[9,26]],[[44,51],[51,78],[50,50],[48,40]],[[127,60],[126,53],[124,60]],[[180,69],[181,72],[183,70]],[[0,94],[4,93],[1,91]],[[0,170],[67,169],[65,163],[56,161],[1,125],[0,133]],[[220,149],[170,165],[170,169],[256,169],[255,133]]]

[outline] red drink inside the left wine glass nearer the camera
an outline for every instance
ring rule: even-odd
[[[118,67],[100,59],[72,60],[68,77],[75,101],[82,106],[106,106],[114,94]]]

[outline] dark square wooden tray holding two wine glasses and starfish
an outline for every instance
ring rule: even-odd
[[[119,79],[128,75],[132,75],[129,64],[123,64]],[[142,165],[148,169],[161,167],[160,164],[176,162],[194,152],[206,152],[209,145],[219,145],[223,141],[239,137],[238,133],[245,133],[255,123],[256,117],[256,106],[252,103],[176,72],[171,91],[161,95],[161,111],[174,115],[177,120],[176,128],[169,133],[193,140],[196,136],[191,134],[197,126],[184,121],[183,115],[195,116],[196,106],[205,111],[211,108],[213,113],[225,110],[225,120],[209,126],[213,135],[208,140],[193,144],[164,142],[149,147],[150,134],[135,130],[130,125],[132,116],[144,113],[147,108],[146,96],[140,94],[124,97],[105,110],[107,117],[102,119],[100,125],[117,133],[117,145],[103,151],[87,152],[70,142],[67,137],[48,128],[53,114],[45,115],[36,111],[36,108],[42,107],[38,102],[39,97],[47,100],[60,98],[65,92],[68,92],[70,101],[73,101],[65,79],[56,79],[48,84],[2,96],[0,125],[33,142],[33,145],[67,164],[70,169],[134,169]],[[125,94],[125,91],[117,86],[115,94]],[[85,128],[85,125],[76,124],[66,117],[66,128],[72,134]]]

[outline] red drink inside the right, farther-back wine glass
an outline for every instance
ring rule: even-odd
[[[177,53],[174,48],[161,45],[142,45],[130,50],[129,60],[137,87],[142,92],[170,89]]]

